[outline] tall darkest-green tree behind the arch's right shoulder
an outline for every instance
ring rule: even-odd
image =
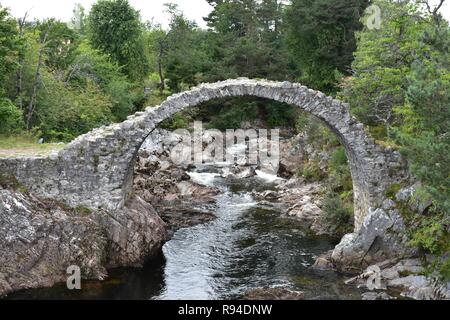
[[[339,75],[348,75],[356,49],[355,31],[368,0],[293,0],[286,10],[287,43],[298,80],[328,94]]]

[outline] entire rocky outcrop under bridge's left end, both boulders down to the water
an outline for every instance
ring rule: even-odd
[[[102,210],[40,199],[0,184],[0,296],[65,282],[67,268],[103,280],[107,269],[142,266],[167,239],[153,207],[135,196],[114,218]],[[12,182],[12,183],[11,183]]]

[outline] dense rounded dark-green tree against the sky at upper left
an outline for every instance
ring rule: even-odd
[[[93,47],[110,55],[131,80],[148,74],[143,46],[143,26],[139,12],[127,0],[100,0],[88,17],[89,39]]]

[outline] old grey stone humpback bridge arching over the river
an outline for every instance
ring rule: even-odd
[[[295,105],[321,119],[339,138],[349,159],[354,185],[355,230],[379,206],[383,191],[398,171],[400,156],[384,150],[367,136],[347,104],[300,84],[236,79],[202,84],[169,97],[157,107],[128,120],[95,129],[47,158],[6,159],[0,172],[13,174],[31,193],[71,206],[121,209],[132,188],[135,159],[148,135],[176,112],[212,99],[253,96]]]

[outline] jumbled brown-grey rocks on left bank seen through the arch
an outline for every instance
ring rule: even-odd
[[[209,207],[218,193],[216,188],[192,181],[187,173],[191,165],[172,162],[171,148],[178,141],[168,131],[155,130],[139,151],[133,184],[134,193],[150,203],[166,223],[169,236],[180,228],[215,219]]]

